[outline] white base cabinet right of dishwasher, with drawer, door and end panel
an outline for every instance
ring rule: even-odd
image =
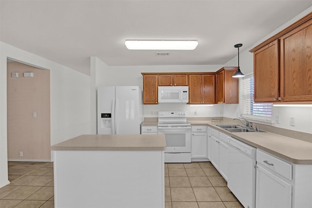
[[[256,151],[256,208],[312,208],[312,165]]]

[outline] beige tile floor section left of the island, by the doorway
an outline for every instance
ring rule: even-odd
[[[53,163],[9,162],[0,208],[54,208]]]

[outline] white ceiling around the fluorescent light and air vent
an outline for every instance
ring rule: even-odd
[[[222,65],[312,0],[0,0],[0,40],[90,75],[110,66]],[[127,39],[195,39],[193,51],[134,51]]]

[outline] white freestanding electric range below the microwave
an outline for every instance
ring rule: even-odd
[[[158,134],[166,137],[166,163],[191,162],[191,124],[186,112],[159,111]]]

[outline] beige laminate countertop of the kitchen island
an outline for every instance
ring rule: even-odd
[[[85,134],[51,146],[51,151],[164,151],[164,134]]]

